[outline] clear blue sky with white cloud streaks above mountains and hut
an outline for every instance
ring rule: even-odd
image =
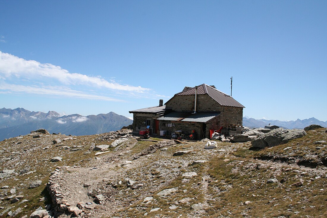
[[[215,85],[244,116],[327,120],[327,1],[0,1],[0,108],[158,105]]]

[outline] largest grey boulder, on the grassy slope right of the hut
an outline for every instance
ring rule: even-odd
[[[274,129],[269,133],[259,136],[257,139],[253,140],[252,147],[254,148],[265,148],[273,147],[280,144],[285,144],[288,141],[301,138],[306,135],[306,132],[301,129]]]

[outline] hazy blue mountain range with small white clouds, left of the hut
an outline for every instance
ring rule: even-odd
[[[24,108],[0,109],[0,140],[29,134],[32,130],[46,129],[50,133],[66,135],[94,135],[116,131],[128,126],[133,120],[109,112],[82,116],[79,114],[60,116],[56,111],[48,113],[29,111]]]

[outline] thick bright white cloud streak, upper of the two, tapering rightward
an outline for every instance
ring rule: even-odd
[[[33,79],[35,77],[55,79],[63,84],[82,84],[97,88],[109,88],[113,90],[124,90],[132,92],[150,91],[149,88],[141,86],[122,85],[109,82],[100,76],[87,76],[80,73],[70,73],[60,66],[53,64],[42,64],[33,60],[25,60],[9,53],[0,51],[0,76],[5,79]]]

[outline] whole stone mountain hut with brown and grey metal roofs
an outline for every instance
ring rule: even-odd
[[[130,111],[134,114],[133,129],[150,124],[151,133],[165,135],[182,131],[185,136],[195,133],[197,138],[210,138],[210,130],[242,126],[244,106],[215,86],[202,84],[185,87],[165,103],[165,106]],[[158,110],[158,112],[153,112]],[[145,121],[145,118],[148,121]],[[144,124],[144,122],[147,122]]]

